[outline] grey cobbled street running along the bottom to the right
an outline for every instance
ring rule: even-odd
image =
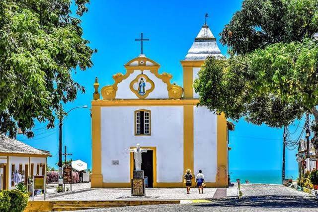
[[[209,203],[149,205],[124,208],[95,209],[87,212],[317,212],[314,197],[280,185],[243,184],[241,199],[218,199]],[[194,201],[195,202],[195,201]]]

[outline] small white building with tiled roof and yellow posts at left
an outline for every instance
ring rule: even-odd
[[[46,176],[49,151],[34,148],[21,141],[0,135],[0,189],[14,189],[28,178]]]

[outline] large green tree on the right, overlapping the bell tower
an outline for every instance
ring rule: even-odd
[[[221,33],[229,59],[209,57],[194,83],[200,105],[270,127],[311,112],[317,124],[317,31],[317,0],[244,0]]]

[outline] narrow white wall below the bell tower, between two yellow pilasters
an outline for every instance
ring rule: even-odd
[[[217,115],[206,107],[194,107],[194,170],[202,170],[206,182],[217,174]]]

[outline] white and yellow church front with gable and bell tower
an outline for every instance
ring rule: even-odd
[[[113,75],[114,83],[94,83],[91,187],[131,187],[134,155],[140,144],[148,187],[184,187],[186,169],[201,169],[207,187],[228,186],[228,128],[224,115],[197,107],[192,84],[207,56],[222,58],[208,25],[181,61],[183,87],[160,65],[141,54]],[[194,185],[194,183],[193,183]]]

